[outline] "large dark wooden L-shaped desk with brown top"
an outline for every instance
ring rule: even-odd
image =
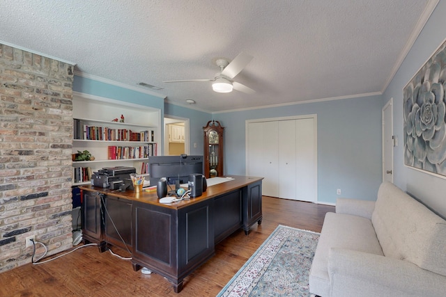
[[[183,279],[215,254],[215,244],[243,227],[261,224],[261,177],[232,176],[197,198],[172,204],[156,193],[81,186],[86,241],[127,248],[134,271],[163,275],[178,293]]]

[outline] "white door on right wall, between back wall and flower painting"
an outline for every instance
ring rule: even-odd
[[[387,121],[385,120],[387,118]],[[393,147],[396,139],[393,134],[393,98],[383,107],[382,119],[382,145],[383,145],[383,182],[392,182],[394,176]],[[386,137],[387,136],[387,137]],[[386,158],[387,156],[387,158]]]

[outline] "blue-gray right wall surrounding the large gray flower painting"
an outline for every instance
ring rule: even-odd
[[[446,217],[446,180],[404,166],[403,159],[403,88],[446,38],[446,1],[440,0],[429,21],[410,49],[397,74],[383,94],[383,104],[393,97],[394,134],[399,145],[394,148],[394,184],[413,194],[424,204]]]

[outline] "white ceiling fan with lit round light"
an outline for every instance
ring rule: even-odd
[[[236,56],[236,58],[229,63],[225,58],[214,59],[215,65],[220,67],[220,72],[215,74],[213,79],[184,79],[180,81],[163,81],[163,83],[181,83],[187,81],[212,81],[212,88],[217,93],[230,93],[233,89],[238,90],[243,93],[253,94],[256,91],[252,90],[242,83],[233,81],[232,79],[236,77],[243,68],[248,65],[248,63],[254,58],[253,56],[241,52]]]

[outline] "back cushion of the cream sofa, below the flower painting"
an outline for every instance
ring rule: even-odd
[[[385,182],[378,190],[371,222],[386,257],[446,276],[446,220]]]

